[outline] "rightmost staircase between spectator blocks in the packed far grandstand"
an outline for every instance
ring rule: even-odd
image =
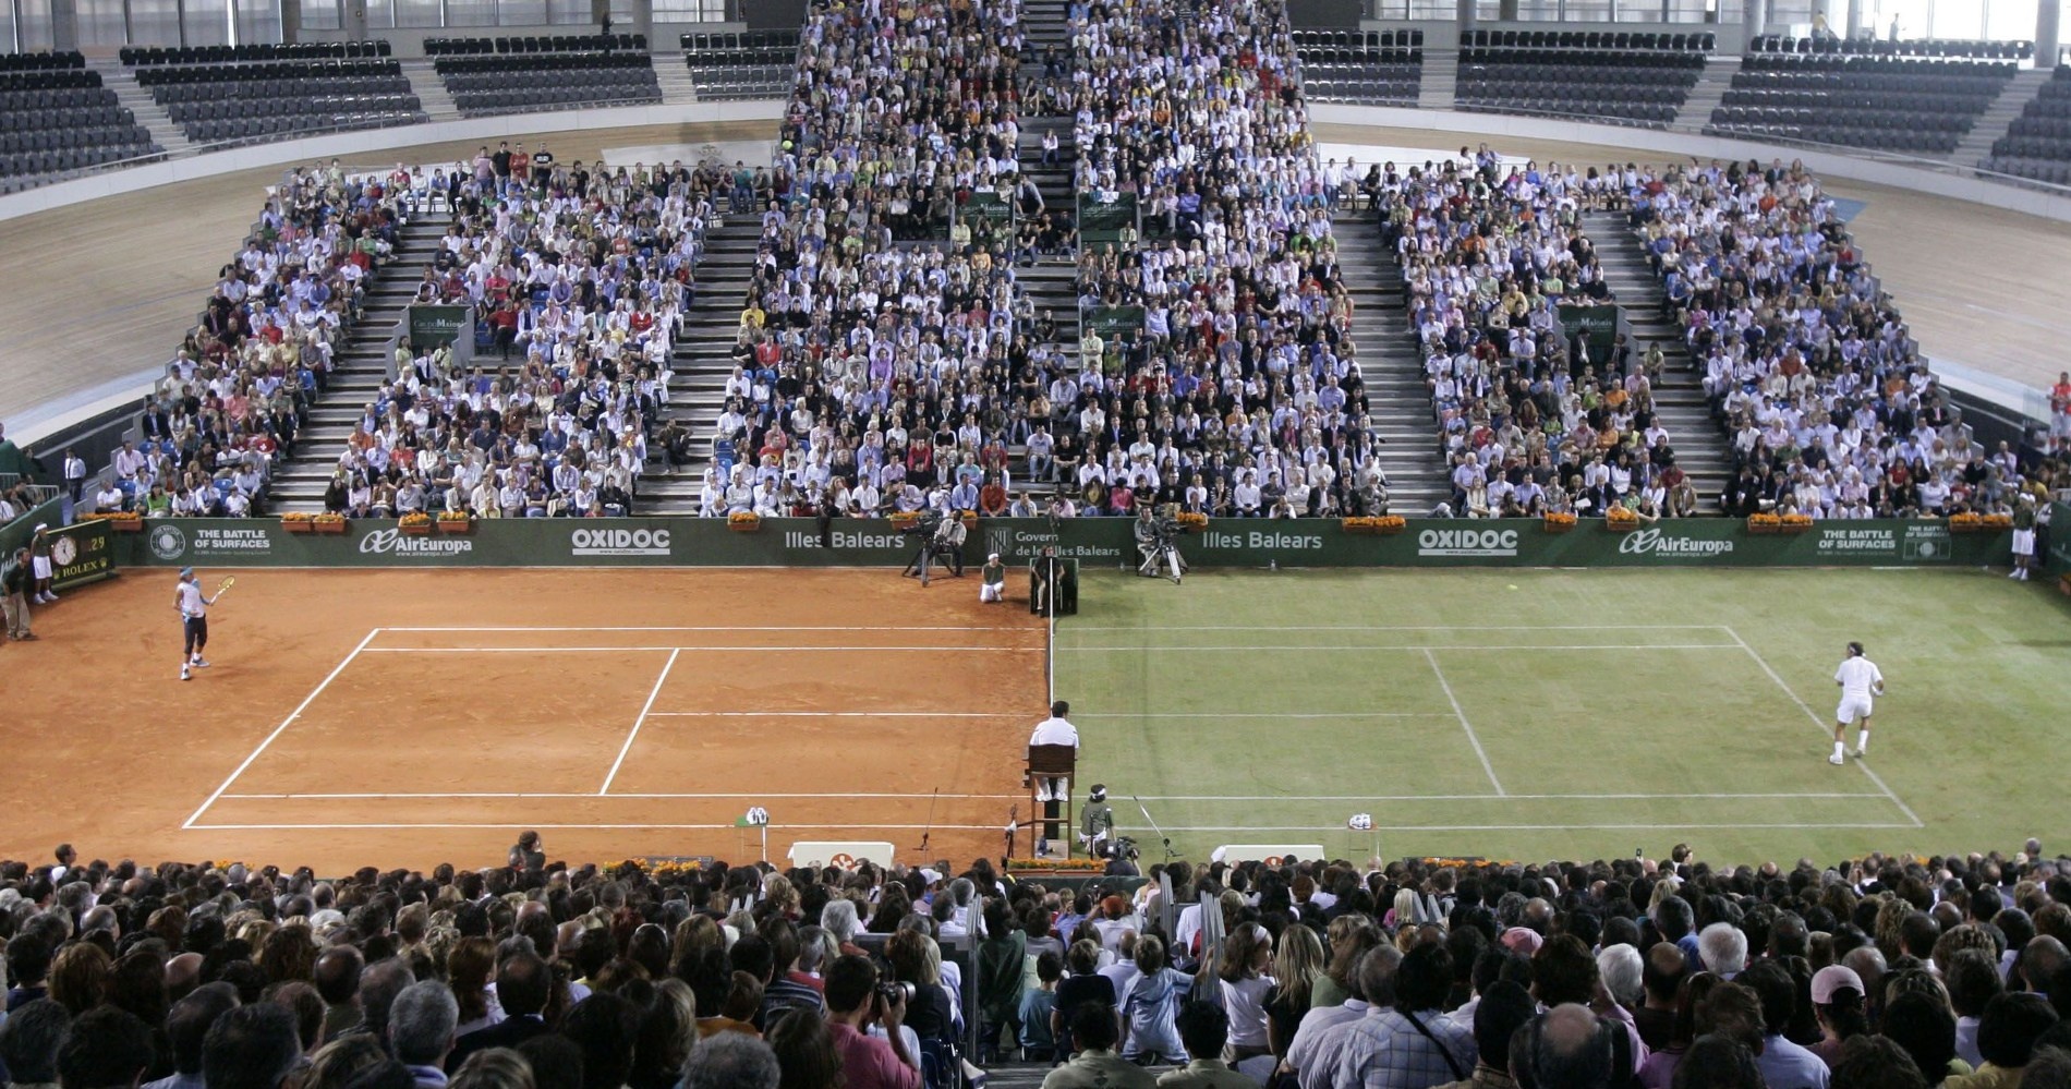
[[[1638,356],[1649,344],[1661,344],[1667,356],[1667,369],[1655,383],[1655,416],[1669,433],[1675,464],[1696,487],[1702,503],[1698,509],[1717,513],[1715,499],[1733,470],[1731,447],[1725,429],[1711,414],[1711,402],[1704,400],[1704,375],[1684,346],[1675,315],[1667,313],[1661,277],[1646,263],[1646,251],[1640,248],[1640,236],[1626,222],[1626,213],[1586,211],[1582,234],[1597,244],[1603,282],[1632,323],[1632,352]]]

